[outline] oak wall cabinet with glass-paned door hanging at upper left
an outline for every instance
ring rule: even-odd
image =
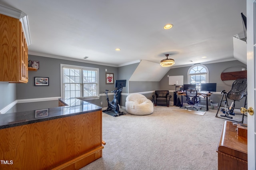
[[[28,45],[21,22],[0,14],[0,81],[28,82]]]

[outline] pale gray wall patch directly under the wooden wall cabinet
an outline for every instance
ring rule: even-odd
[[[16,83],[0,82],[0,110],[16,101]]]

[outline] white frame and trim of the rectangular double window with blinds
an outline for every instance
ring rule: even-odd
[[[63,68],[70,68],[70,69],[82,69],[82,70],[90,70],[90,71],[97,71],[97,96],[93,97],[76,97],[76,98],[84,98],[86,100],[93,100],[93,99],[100,99],[100,83],[99,83],[99,68],[94,68],[94,67],[84,67],[84,66],[79,66],[79,65],[68,65],[68,64],[60,64],[60,91],[61,91],[61,98],[64,98],[64,77],[63,77]],[[82,71],[83,72],[83,71]],[[83,74],[83,73],[82,73]],[[82,89],[83,89],[83,82],[81,82]],[[83,94],[83,92],[82,92]]]

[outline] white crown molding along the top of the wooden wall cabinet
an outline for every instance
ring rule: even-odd
[[[30,37],[27,14],[25,14],[24,12],[22,12],[20,10],[16,10],[14,8],[3,6],[1,4],[0,4],[0,14],[19,19],[22,24],[22,29],[24,31],[24,36],[26,38],[27,45],[31,45],[31,37]]]

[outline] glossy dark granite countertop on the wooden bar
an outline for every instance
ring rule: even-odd
[[[0,129],[100,111],[102,107],[80,99],[59,99],[67,106],[0,114]]]

